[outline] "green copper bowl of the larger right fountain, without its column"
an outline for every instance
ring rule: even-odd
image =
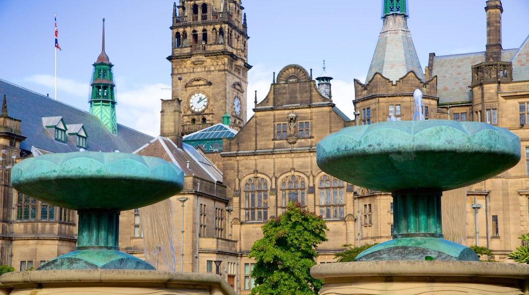
[[[354,185],[379,191],[450,190],[512,168],[520,139],[505,128],[448,120],[352,126],[317,145],[317,164]]]

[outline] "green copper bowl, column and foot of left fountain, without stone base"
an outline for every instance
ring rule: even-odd
[[[184,187],[184,172],[160,158],[127,153],[44,154],[16,164],[11,184],[51,205],[77,210],[75,252],[38,270],[154,270],[119,250],[120,211],[153,204]]]

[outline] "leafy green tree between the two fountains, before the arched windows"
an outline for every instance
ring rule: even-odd
[[[285,214],[262,227],[249,257],[256,260],[251,276],[256,287],[251,294],[317,294],[323,281],[312,278],[316,247],[327,241],[325,220],[298,203],[289,203]]]

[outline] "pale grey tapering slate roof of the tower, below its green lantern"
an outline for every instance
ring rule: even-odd
[[[366,84],[377,72],[395,82],[409,71],[414,71],[417,77],[424,81],[421,62],[412,35],[407,29],[406,17],[399,14],[386,15],[375,54],[371,59]]]

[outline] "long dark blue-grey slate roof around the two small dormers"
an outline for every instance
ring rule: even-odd
[[[117,134],[112,134],[96,116],[84,110],[0,79],[0,96],[4,95],[8,115],[22,121],[22,135],[27,137],[20,144],[22,150],[31,151],[32,146],[54,153],[79,150],[76,136],[67,136],[66,142],[55,140],[43,126],[42,117],[61,117],[66,125],[83,124],[88,135],[87,151],[131,153],[153,138],[120,124]]]

